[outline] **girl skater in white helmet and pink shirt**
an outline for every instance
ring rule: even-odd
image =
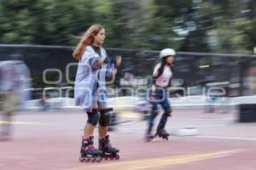
[[[152,111],[148,117],[148,129],[146,133],[146,141],[151,141],[154,137],[159,136],[162,139],[168,139],[169,133],[166,133],[165,127],[167,117],[171,116],[172,109],[168,102],[167,88],[172,80],[172,63],[176,52],[172,48],[165,48],[160,51],[161,62],[154,67],[153,83],[150,92],[150,103]],[[160,122],[156,128],[156,133],[152,134],[154,126],[154,118],[158,115],[158,105],[161,105],[164,113],[160,118]]]

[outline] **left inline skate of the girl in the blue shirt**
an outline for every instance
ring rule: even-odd
[[[82,146],[80,151],[81,156],[79,157],[79,161],[83,162],[100,162],[102,161],[102,151],[97,150],[93,146],[93,136],[90,136],[89,138],[83,138],[82,140]]]

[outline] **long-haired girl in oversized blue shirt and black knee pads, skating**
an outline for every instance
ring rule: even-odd
[[[102,156],[105,159],[119,159],[119,150],[112,147],[109,141],[110,113],[105,78],[114,78],[121,58],[119,57],[115,63],[110,62],[105,49],[102,48],[105,37],[103,26],[90,26],[73,51],[73,57],[79,59],[74,87],[75,104],[81,105],[88,116],[84,127],[80,161],[101,161]],[[93,133],[98,123],[99,150],[93,144]]]

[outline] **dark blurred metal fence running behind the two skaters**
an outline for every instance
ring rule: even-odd
[[[139,88],[147,85],[148,78],[158,61],[159,51],[106,49],[109,57],[122,56],[122,65],[116,80],[109,86]],[[70,88],[73,88],[78,60],[73,59],[72,53],[72,47],[0,45],[0,61],[10,54],[24,54],[24,61],[32,74],[34,99],[40,98],[45,89],[52,91],[51,94],[55,96],[65,94],[73,97]],[[256,55],[253,54],[178,52],[174,71],[172,85],[189,88],[190,94],[200,94],[202,88],[212,83],[215,83],[215,86],[229,88],[229,96],[256,94]],[[131,95],[125,90],[122,90],[122,93]]]

